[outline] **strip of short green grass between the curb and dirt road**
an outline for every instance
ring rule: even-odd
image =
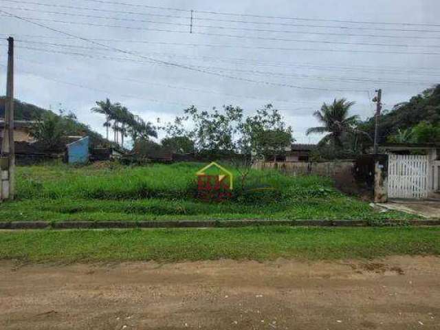
[[[0,259],[33,263],[371,259],[439,255],[439,228],[72,230],[0,233]]]

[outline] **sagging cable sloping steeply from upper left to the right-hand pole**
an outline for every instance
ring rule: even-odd
[[[47,26],[47,25],[44,25],[44,24],[41,24],[41,23],[38,23],[38,22],[34,22],[34,21],[30,20],[30,19],[19,17],[19,16],[15,15],[15,14],[10,14],[9,12],[5,12],[4,10],[0,10],[0,12],[3,12],[4,14],[8,14],[8,15],[10,15],[12,17],[15,17],[16,19],[19,19],[21,21],[25,21],[25,22],[31,23],[33,25],[39,26],[41,28],[45,28],[47,30],[51,30],[52,32],[61,33],[61,34],[64,34],[66,36],[71,36],[71,37],[74,37],[74,38],[82,40],[82,41],[87,41],[89,43],[93,43],[94,45],[98,45],[98,46],[102,46],[102,47],[107,47],[109,50],[115,50],[116,52],[121,52],[123,54],[129,54],[131,56],[137,56],[137,57],[140,57],[140,58],[144,58],[144,59],[146,59],[148,61],[153,61],[153,62],[164,64],[164,65],[169,65],[171,67],[179,67],[179,68],[187,69],[187,70],[190,70],[190,71],[193,71],[193,72],[200,72],[200,73],[204,73],[204,74],[210,74],[212,76],[219,76],[219,77],[222,77],[222,78],[230,78],[230,79],[234,79],[234,80],[241,80],[241,81],[245,81],[245,82],[248,82],[248,83],[259,83],[259,84],[264,84],[264,85],[271,85],[271,86],[278,86],[278,87],[289,87],[289,88],[294,88],[294,89],[308,89],[308,90],[315,90],[315,91],[332,91],[332,90],[333,91],[349,91],[348,89],[345,89],[345,90],[327,89],[327,88],[319,88],[319,87],[303,87],[303,86],[296,86],[296,85],[290,85],[290,84],[272,83],[272,82],[267,82],[267,81],[264,81],[264,80],[252,80],[252,79],[248,79],[248,78],[241,78],[241,77],[235,77],[235,76],[230,76],[230,75],[225,75],[225,74],[218,74],[218,73],[210,72],[210,71],[203,70],[203,69],[197,69],[195,67],[190,67],[188,65],[181,65],[179,63],[173,63],[173,62],[169,62],[169,61],[162,61],[162,60],[157,60],[157,59],[153,59],[153,58],[148,58],[147,56],[142,56],[140,54],[135,54],[133,52],[129,52],[129,51],[126,51],[126,50],[120,50],[117,47],[112,47],[112,46],[109,46],[109,45],[104,45],[102,43],[97,43],[96,41],[92,41],[92,40],[84,38],[82,36],[76,36],[75,34],[72,34],[72,33],[69,33],[69,32],[65,32],[65,31],[62,31],[62,30],[57,30],[57,29],[51,28],[50,26]],[[359,90],[359,89],[357,89],[357,90],[352,89],[351,91],[365,93],[365,90]]]

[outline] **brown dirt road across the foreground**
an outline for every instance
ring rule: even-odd
[[[440,259],[3,261],[0,329],[440,329]]]

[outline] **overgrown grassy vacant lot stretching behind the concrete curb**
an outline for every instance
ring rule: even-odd
[[[145,221],[197,219],[405,219],[342,195],[330,179],[252,170],[225,203],[195,198],[205,164],[121,166],[98,163],[18,168],[17,201],[0,206],[1,221]],[[228,166],[230,168],[230,166]],[[256,189],[270,187],[271,189]],[[410,216],[414,218],[414,216]]]

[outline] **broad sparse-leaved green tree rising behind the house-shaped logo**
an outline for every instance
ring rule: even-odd
[[[161,129],[167,133],[167,144],[185,141],[193,143],[197,153],[227,155],[241,175],[242,188],[256,159],[283,153],[293,141],[292,128],[272,104],[246,118],[241,107],[228,105],[208,112],[192,106]]]

